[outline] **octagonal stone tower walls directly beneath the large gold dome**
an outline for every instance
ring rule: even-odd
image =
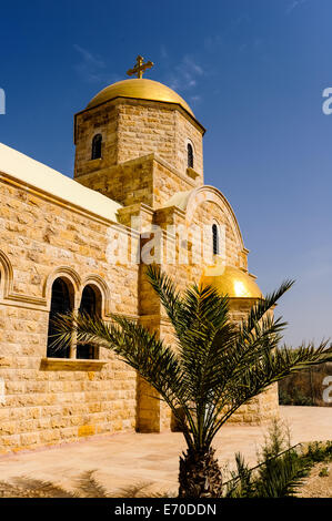
[[[91,161],[94,134],[102,134],[102,160]],[[187,145],[194,170],[203,178],[203,130],[177,105],[118,99],[76,118],[76,177],[154,153],[181,174],[187,171]]]

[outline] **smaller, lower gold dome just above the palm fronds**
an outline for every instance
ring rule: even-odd
[[[254,277],[242,269],[215,264],[204,268],[201,284],[212,286],[230,298],[263,298]]]

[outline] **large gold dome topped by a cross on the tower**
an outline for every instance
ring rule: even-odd
[[[87,109],[99,105],[114,98],[135,98],[138,100],[162,101],[165,103],[177,103],[181,105],[191,115],[194,115],[189,104],[167,85],[158,81],[148,79],[122,80],[112,83],[100,91],[88,104]]]

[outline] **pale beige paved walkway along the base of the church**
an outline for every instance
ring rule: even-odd
[[[332,439],[332,408],[281,407],[281,416],[290,427],[292,443]],[[232,462],[237,451],[254,464],[256,449],[265,433],[263,427],[223,427],[214,441],[221,464]],[[175,492],[182,449],[183,437],[178,432],[92,438],[3,457],[0,459],[0,481],[31,477],[73,491],[84,472],[94,471],[94,479],[109,493],[120,497],[128,487],[142,483],[147,487],[150,483],[149,490]]]

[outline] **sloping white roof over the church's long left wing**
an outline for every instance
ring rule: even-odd
[[[115,201],[105,197],[94,190],[82,186],[77,181],[32,160],[28,155],[10,149],[10,146],[3,143],[0,143],[1,172],[109,221],[117,222],[117,212],[122,207]]]

